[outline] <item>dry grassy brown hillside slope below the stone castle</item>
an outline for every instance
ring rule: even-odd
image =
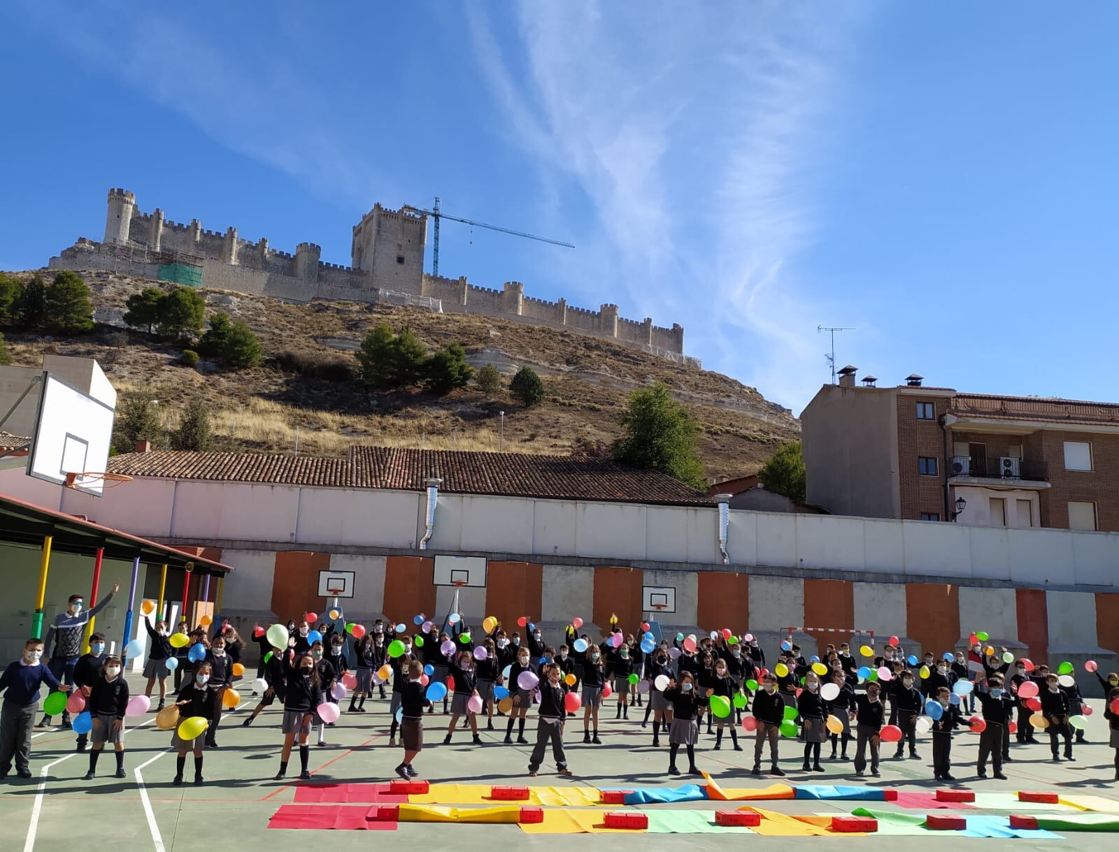
[[[245,320],[264,345],[265,361],[241,372],[206,361],[188,368],[179,363],[179,349],[123,325],[124,300],[158,282],[105,272],[82,275],[92,290],[95,331],[78,338],[9,331],[13,362],[38,366],[46,352],[96,358],[119,390],[143,388],[160,399],[169,426],[187,399],[201,396],[222,448],[294,452],[298,441],[301,453],[317,455],[341,455],[352,444],[604,452],[619,433],[628,392],[656,381],[699,424],[711,477],[753,472],[779,443],[799,436],[787,409],[717,372],[577,332],[412,307],[290,304],[207,290],[207,316],[225,311]],[[357,378],[354,352],[378,322],[411,329],[431,349],[458,342],[471,365],[493,363],[506,384],[527,365],[543,377],[547,398],[526,409],[504,389],[490,398],[473,387],[443,397],[370,390]]]

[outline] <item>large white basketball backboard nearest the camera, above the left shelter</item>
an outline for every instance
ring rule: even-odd
[[[115,392],[109,398],[115,403]],[[109,465],[114,414],[115,405],[94,399],[48,373],[39,394],[28,475],[64,485],[68,473],[103,473]],[[78,476],[74,484],[97,496],[104,489],[97,477]]]

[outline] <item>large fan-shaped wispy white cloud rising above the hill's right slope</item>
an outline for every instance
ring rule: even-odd
[[[583,277],[612,269],[629,307],[683,322],[707,366],[799,409],[826,375],[816,325],[837,306],[797,262],[826,216],[812,170],[861,21],[680,8],[526,2],[510,48],[474,7],[470,32],[546,179],[566,174],[592,201]]]

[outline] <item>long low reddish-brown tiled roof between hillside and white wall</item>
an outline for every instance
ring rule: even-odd
[[[180,480],[320,487],[422,491],[431,476],[441,491],[565,500],[714,505],[709,496],[657,471],[576,456],[459,453],[446,449],[352,447],[349,458],[253,453],[129,453],[109,462],[114,473]]]

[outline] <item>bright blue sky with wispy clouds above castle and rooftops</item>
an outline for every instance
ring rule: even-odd
[[[1119,401],[1119,6],[8,2],[0,267],[105,192],[349,262],[380,201],[440,272],[685,326],[799,413],[840,365]],[[430,268],[430,252],[429,252]]]

